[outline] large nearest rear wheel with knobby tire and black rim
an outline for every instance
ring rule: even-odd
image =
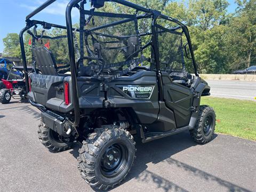
[[[97,190],[118,185],[129,173],[135,158],[132,135],[116,125],[95,129],[79,149],[78,170]]]

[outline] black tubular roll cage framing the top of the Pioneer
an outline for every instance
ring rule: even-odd
[[[70,72],[71,72],[71,79],[72,79],[72,85],[70,86],[70,89],[72,89],[73,96],[74,96],[73,97],[74,98],[74,101],[73,101],[73,105],[74,105],[73,125],[74,126],[78,126],[79,114],[80,114],[79,102],[78,102],[78,91],[77,91],[77,76],[79,76],[78,72],[79,72],[79,70],[82,70],[84,68],[84,66],[83,66],[84,59],[91,59],[91,60],[95,59],[95,58],[90,58],[90,57],[84,56],[85,33],[95,33],[94,31],[103,29],[106,27],[119,25],[119,24],[126,23],[129,21],[138,22],[139,19],[143,19],[143,18],[151,18],[152,20],[151,20],[150,34],[149,33],[140,34],[140,36],[151,35],[151,41],[144,46],[140,45],[140,50],[145,49],[149,45],[151,45],[151,47],[153,49],[155,70],[156,70],[156,74],[157,74],[157,82],[158,82],[158,87],[159,87],[159,96],[158,97],[159,97],[159,101],[163,101],[162,72],[161,72],[161,66],[160,66],[160,61],[159,61],[159,50],[158,50],[158,44],[157,44],[157,33],[159,33],[159,32],[157,32],[157,30],[161,27],[157,25],[156,20],[158,18],[162,18],[162,19],[177,23],[178,27],[174,27],[174,28],[171,28],[168,30],[170,32],[175,33],[176,30],[182,29],[182,32],[185,34],[185,36],[187,38],[187,43],[188,43],[188,47],[190,50],[190,55],[191,55],[191,60],[193,62],[195,75],[198,76],[194,52],[192,49],[188,28],[185,25],[183,25],[180,21],[178,21],[177,19],[168,17],[157,10],[147,9],[145,7],[142,7],[137,4],[134,4],[134,3],[131,3],[128,1],[124,1],[124,0],[111,0],[110,2],[114,2],[114,3],[122,4],[124,6],[131,7],[136,10],[135,14],[106,13],[106,12],[94,11],[95,9],[102,7],[104,5],[104,3],[107,2],[105,0],[91,0],[92,5],[94,6],[94,8],[92,8],[91,10],[84,10],[84,4],[86,3],[85,0],[71,0],[68,3],[67,8],[66,8],[66,26],[56,25],[54,23],[48,23],[48,22],[44,22],[44,21],[30,20],[31,17],[33,17],[37,13],[41,12],[43,9],[45,9],[47,6],[51,5],[55,1],[56,0],[48,0],[44,4],[39,6],[35,11],[28,14],[26,17],[26,27],[23,28],[19,34],[23,68],[25,70],[26,89],[28,92],[29,91],[28,68],[27,68],[27,61],[26,61],[26,54],[25,54],[25,46],[24,46],[24,42],[23,42],[23,34],[25,33],[25,31],[28,31],[30,28],[35,27],[36,25],[42,25],[44,29],[50,29],[51,27],[66,29],[67,30],[69,60],[70,60]],[[80,12],[79,29],[73,28],[73,25],[72,25],[71,10],[74,7],[77,8]],[[141,11],[144,14],[137,15],[138,11]],[[122,18],[122,20],[114,21],[112,23],[108,23],[108,24],[105,24],[102,26],[93,27],[90,30],[84,30],[84,26],[86,25],[85,14],[88,14],[88,15],[93,14],[93,15],[99,16],[99,17]],[[89,17],[88,20],[90,20],[90,19],[91,18]],[[80,57],[77,62],[76,62],[76,58],[75,58],[76,47],[74,46],[74,33],[73,33],[75,30],[79,32],[79,42],[80,42]],[[136,29],[136,30],[137,30],[137,35],[138,35],[138,29]],[[167,30],[167,29],[164,29],[162,27],[162,30]],[[102,34],[98,34],[98,35],[102,35]],[[114,35],[111,35],[111,37],[114,37]],[[121,63],[121,65],[124,65],[124,63]],[[118,65],[116,64],[116,66],[118,66]],[[111,67],[111,66],[109,66],[109,67]],[[136,65],[134,65],[133,68],[134,67],[136,67]],[[131,69],[132,68],[127,69],[127,71],[131,70]],[[104,85],[105,85],[105,81],[102,80],[102,87],[104,87]]]

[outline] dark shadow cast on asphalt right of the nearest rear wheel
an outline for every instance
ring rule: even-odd
[[[214,134],[213,139],[218,137]],[[147,163],[157,164],[159,162],[167,162],[168,164],[179,167],[180,171],[193,173],[197,177],[197,181],[215,181],[220,186],[226,187],[227,191],[248,191],[242,187],[234,185],[228,181],[222,180],[214,175],[199,170],[193,166],[182,163],[171,158],[172,155],[179,153],[189,147],[197,145],[190,137],[187,132],[182,132],[177,135],[172,135],[164,139],[156,140],[150,143],[141,143],[137,141],[137,158],[134,166],[132,167],[131,173],[127,176],[124,182],[130,179],[137,179],[142,182],[154,182],[158,188],[164,191],[187,191],[175,183],[161,177],[160,175],[147,170]],[[144,152],[143,152],[144,151]],[[146,151],[146,152],[145,152]],[[139,152],[139,153],[138,153]],[[141,153],[142,152],[142,153]],[[166,167],[167,169],[167,167]]]

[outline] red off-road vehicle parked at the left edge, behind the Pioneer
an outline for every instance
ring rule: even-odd
[[[33,68],[28,67],[28,71],[32,72]],[[23,75],[17,75],[17,72]],[[13,95],[19,95],[21,100],[27,98],[24,69],[22,66],[12,67],[7,79],[2,79],[2,82],[0,82],[0,102],[3,104],[9,103]]]

